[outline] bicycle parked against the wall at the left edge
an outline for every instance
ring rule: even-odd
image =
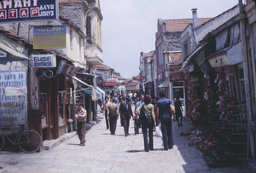
[[[37,152],[42,144],[41,136],[35,130],[26,130],[25,124],[20,124],[19,126],[20,132],[16,134],[14,141],[0,128],[0,151],[4,147],[5,138],[7,138],[14,146],[19,146],[24,153]]]

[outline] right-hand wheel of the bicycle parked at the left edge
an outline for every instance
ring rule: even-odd
[[[42,138],[35,130],[25,130],[20,134],[18,143],[23,152],[34,153],[41,146]]]

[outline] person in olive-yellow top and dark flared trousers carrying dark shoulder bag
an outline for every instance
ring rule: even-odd
[[[142,110],[144,109],[144,111]],[[143,126],[143,140],[144,140],[144,149],[146,152],[149,150],[154,149],[153,145],[153,129],[156,125],[155,123],[155,116],[154,116],[154,106],[151,104],[151,96],[145,95],[144,103],[142,103],[137,108],[137,114],[140,113],[140,119],[142,121]],[[145,114],[142,115],[142,112]],[[143,118],[143,116],[148,116],[147,118]],[[149,143],[148,143],[148,136],[149,136]]]

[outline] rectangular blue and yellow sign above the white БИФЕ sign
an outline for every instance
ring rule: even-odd
[[[34,26],[33,49],[66,48],[66,26]]]

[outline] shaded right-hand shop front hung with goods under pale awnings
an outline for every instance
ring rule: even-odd
[[[241,40],[239,34],[227,37],[229,32],[239,32],[239,27],[208,38],[183,63],[186,113],[201,131],[192,143],[209,165],[250,157]]]

